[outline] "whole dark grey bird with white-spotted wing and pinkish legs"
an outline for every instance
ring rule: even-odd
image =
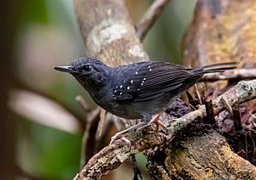
[[[70,73],[103,109],[127,120],[141,119],[133,127],[118,132],[111,142],[125,132],[148,126],[160,127],[160,115],[177,98],[208,73],[232,70],[237,62],[204,65],[195,69],[160,61],[143,61],[109,67],[90,57],[75,59],[70,65],[55,70]]]

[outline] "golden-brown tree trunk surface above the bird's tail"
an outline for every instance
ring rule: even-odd
[[[199,0],[184,37],[183,63],[239,61],[255,68],[255,13],[254,0]]]

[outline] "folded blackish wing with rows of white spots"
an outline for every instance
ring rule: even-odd
[[[192,76],[182,65],[164,62],[143,62],[125,70],[134,72],[113,89],[116,101],[138,102],[157,98],[182,86]]]

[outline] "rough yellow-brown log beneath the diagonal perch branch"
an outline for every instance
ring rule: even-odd
[[[187,138],[150,155],[152,179],[255,179],[256,168],[233,153],[224,137],[211,132]],[[164,157],[156,160],[156,155]]]

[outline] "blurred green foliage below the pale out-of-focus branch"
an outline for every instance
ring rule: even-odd
[[[18,159],[38,177],[72,179],[79,169],[81,138],[29,120],[20,120]]]

